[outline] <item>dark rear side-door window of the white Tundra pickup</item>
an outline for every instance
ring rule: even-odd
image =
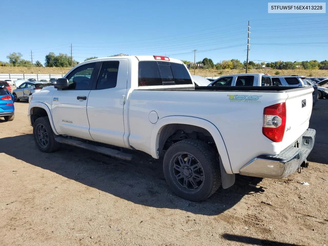
[[[99,72],[96,89],[109,89],[116,87],[119,61],[103,62]]]

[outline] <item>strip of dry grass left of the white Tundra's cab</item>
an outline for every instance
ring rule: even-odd
[[[31,68],[25,68],[25,67],[0,67],[0,73],[41,73],[41,74],[66,74],[68,71],[71,70],[71,67],[69,68],[37,68],[37,67],[31,67]],[[25,72],[24,72],[25,71]]]

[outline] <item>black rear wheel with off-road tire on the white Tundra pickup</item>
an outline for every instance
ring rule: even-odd
[[[212,147],[194,139],[173,144],[163,160],[169,187],[176,195],[191,201],[203,201],[220,187],[219,166]]]

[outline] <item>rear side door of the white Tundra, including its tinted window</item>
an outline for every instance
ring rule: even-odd
[[[125,147],[123,107],[128,64],[128,59],[104,61],[97,82],[89,94],[89,131],[97,142]]]

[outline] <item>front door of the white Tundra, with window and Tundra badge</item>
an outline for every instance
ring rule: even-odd
[[[59,134],[93,140],[89,133],[87,102],[97,63],[87,63],[69,73],[69,88],[56,90],[52,96],[51,112]]]

